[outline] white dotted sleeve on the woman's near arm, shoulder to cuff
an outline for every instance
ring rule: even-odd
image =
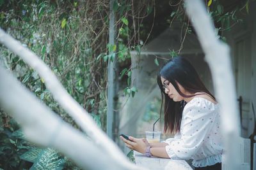
[[[170,141],[166,152],[171,159],[191,159],[199,148],[209,140],[218,112],[214,104],[202,99],[193,99],[183,111],[180,125],[180,139]],[[205,156],[205,153],[201,153]]]

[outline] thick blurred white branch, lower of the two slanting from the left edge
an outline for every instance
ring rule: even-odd
[[[83,169],[130,169],[57,117],[1,66],[0,80],[0,106],[19,122],[27,139],[56,148]]]

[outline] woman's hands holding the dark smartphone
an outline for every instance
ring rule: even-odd
[[[123,138],[120,136],[122,141],[124,141],[125,145],[130,148],[131,150],[136,150],[137,152],[140,153],[145,153],[147,146],[150,146],[147,139],[145,138],[133,138],[132,136],[129,136],[129,140]]]

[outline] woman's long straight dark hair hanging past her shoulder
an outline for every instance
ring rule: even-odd
[[[168,94],[163,90],[163,84],[161,77],[172,83],[173,87],[182,97],[193,97],[198,94],[196,92],[204,92],[215,100],[215,97],[205,88],[204,83],[196,73],[195,68],[190,64],[184,57],[175,57],[170,59],[159,71],[157,75],[157,83],[161,89],[162,104],[161,111],[163,108],[164,98],[164,132],[176,133],[180,131],[180,122],[182,119],[182,111],[186,105],[185,101],[175,102],[170,99]],[[186,92],[193,95],[186,95],[182,93],[178,87],[179,83]]]

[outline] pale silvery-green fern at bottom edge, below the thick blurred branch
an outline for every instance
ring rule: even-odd
[[[59,170],[63,169],[65,165],[65,160],[60,154],[52,149],[52,148],[45,148],[35,160],[35,163],[30,168],[30,170]]]

